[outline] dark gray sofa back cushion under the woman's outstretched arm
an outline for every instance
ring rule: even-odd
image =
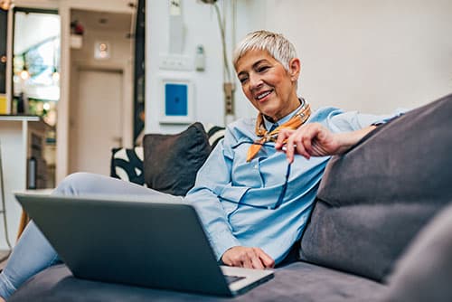
[[[301,258],[384,278],[422,225],[452,200],[451,113],[449,95],[334,156],[303,235]]]

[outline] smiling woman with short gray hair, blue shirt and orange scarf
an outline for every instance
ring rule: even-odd
[[[250,33],[233,62],[258,118],[227,127],[185,200],[196,207],[219,261],[272,268],[287,259],[300,239],[328,156],[353,146],[382,117],[334,108],[311,113],[307,102],[297,97],[297,53],[281,34]],[[160,194],[80,173],[68,176],[54,193]],[[0,275],[0,297],[9,297],[27,278],[57,261],[57,253],[30,223]]]

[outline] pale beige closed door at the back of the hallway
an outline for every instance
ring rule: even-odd
[[[79,71],[70,112],[70,173],[109,175],[111,148],[122,145],[122,77],[121,71]]]

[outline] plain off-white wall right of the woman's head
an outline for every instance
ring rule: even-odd
[[[315,108],[411,109],[452,91],[448,0],[255,0],[263,27],[302,61],[299,94]]]

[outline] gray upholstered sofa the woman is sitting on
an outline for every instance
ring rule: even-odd
[[[452,301],[450,150],[452,95],[334,156],[300,260],[240,297],[93,282],[61,264],[29,279],[10,301]]]

